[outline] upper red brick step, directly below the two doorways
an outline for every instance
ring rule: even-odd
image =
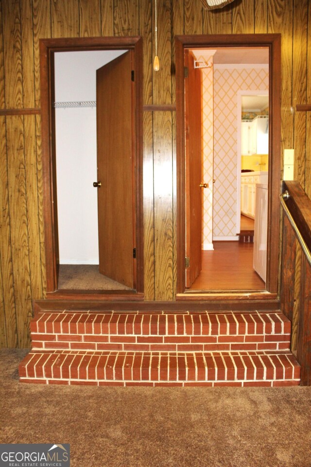
[[[280,312],[53,312],[31,323],[33,349],[89,351],[287,350]]]

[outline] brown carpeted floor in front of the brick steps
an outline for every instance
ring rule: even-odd
[[[71,467],[310,467],[311,388],[18,383],[0,351],[0,443],[70,443]]]

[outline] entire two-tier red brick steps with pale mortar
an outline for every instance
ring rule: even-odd
[[[96,385],[299,384],[281,312],[60,312],[31,323],[20,381]]]

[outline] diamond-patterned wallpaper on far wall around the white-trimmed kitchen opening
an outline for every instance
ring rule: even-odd
[[[269,71],[263,68],[214,66],[213,87],[213,221],[211,222],[210,210],[207,209],[204,211],[204,226],[207,223],[210,228],[211,223],[213,224],[213,240],[225,240],[226,237],[230,240],[232,237],[236,238],[237,234],[237,92],[268,90]],[[203,242],[205,241],[204,236]]]

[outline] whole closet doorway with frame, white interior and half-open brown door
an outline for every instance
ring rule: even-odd
[[[40,41],[47,293],[143,292],[141,39]]]

